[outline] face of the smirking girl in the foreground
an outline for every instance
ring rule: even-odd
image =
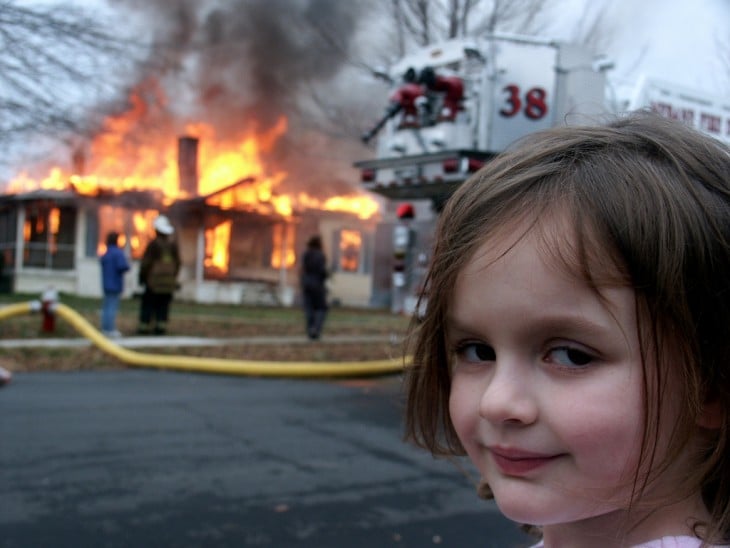
[[[634,293],[599,297],[540,245],[534,232],[506,254],[489,241],[458,277],[447,318],[451,420],[507,517],[543,526],[600,518],[611,531],[631,497],[644,429]],[[662,424],[675,412],[663,409]],[[669,475],[651,492],[671,493]]]

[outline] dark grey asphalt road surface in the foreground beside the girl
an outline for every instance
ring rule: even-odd
[[[453,463],[400,441],[400,379],[17,373],[2,547],[527,546]]]

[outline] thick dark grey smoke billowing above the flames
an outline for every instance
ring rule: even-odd
[[[355,132],[338,139],[322,131],[322,118],[317,120],[311,105],[321,106],[312,98],[322,96],[332,107],[357,100],[333,90],[343,69],[351,67],[352,44],[368,2],[116,0],[113,5],[138,16],[153,43],[130,87],[159,85],[167,98],[145,95],[151,115],[141,124],[147,126],[145,134],[201,121],[220,138],[235,138],[252,127],[265,131],[285,115],[289,131],[268,158],[289,173],[285,185],[319,194],[356,186],[351,163],[367,151]]]

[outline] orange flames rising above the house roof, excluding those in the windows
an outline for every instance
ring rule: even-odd
[[[89,173],[74,172],[60,166],[49,168],[48,174],[34,178],[27,172],[13,178],[7,192],[14,194],[38,189],[69,190],[95,196],[100,192],[121,193],[129,190],[159,192],[165,205],[190,198],[190,192],[180,188],[176,138],[166,136],[164,142],[141,141],[131,132],[146,112],[138,93],[130,98],[129,110],[106,119],[103,131],[92,141],[90,158],[78,166]],[[337,196],[320,200],[306,193],[283,194],[279,187],[289,174],[271,172],[263,157],[288,129],[286,117],[263,131],[253,127],[236,140],[222,140],[215,128],[202,122],[191,123],[185,133],[200,142],[198,195],[216,193],[243,179],[252,180],[250,188],[237,188],[210,199],[222,208],[243,207],[260,213],[275,212],[291,217],[296,208],[343,211],[366,219],[377,213],[378,203],[366,195]]]

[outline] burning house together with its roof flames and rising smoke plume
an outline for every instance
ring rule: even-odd
[[[319,233],[331,299],[386,304],[372,299],[373,280],[389,283],[390,257],[382,276],[373,269],[384,253],[376,242],[389,249],[390,235],[378,228],[380,203],[357,186],[352,162],[363,149],[342,115],[371,96],[347,73],[361,8],[118,6],[140,16],[135,36],[148,62],[124,73],[119,96],[87,105],[84,131],[66,140],[61,161],[36,159],[27,174],[0,181],[5,289],[100,295],[98,257],[114,230],[131,259],[132,293],[152,221],[165,213],[182,254],[179,298],[288,304],[296,258]],[[293,32],[303,21],[326,32]]]

